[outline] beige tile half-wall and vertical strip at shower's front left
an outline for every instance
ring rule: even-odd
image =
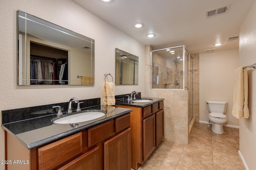
[[[150,89],[150,51],[145,46],[145,96],[164,98],[164,135],[177,143],[188,144],[188,91]]]

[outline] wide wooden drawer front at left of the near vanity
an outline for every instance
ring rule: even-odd
[[[82,132],[39,148],[39,170],[52,169],[79,153],[82,153]]]

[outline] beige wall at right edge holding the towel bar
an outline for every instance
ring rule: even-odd
[[[240,27],[239,66],[256,63],[256,1]],[[248,68],[249,119],[239,119],[240,153],[246,170],[256,169],[256,70]]]

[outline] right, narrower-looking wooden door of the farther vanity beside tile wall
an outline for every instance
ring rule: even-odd
[[[156,147],[164,139],[164,110],[156,113]]]

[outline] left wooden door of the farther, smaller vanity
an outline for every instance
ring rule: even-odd
[[[143,156],[144,162],[156,148],[155,115],[143,120]]]

